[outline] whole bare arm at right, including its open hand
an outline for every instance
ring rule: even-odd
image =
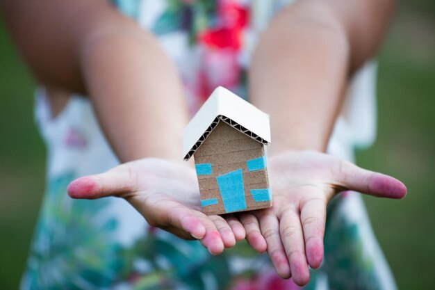
[[[271,116],[272,158],[268,167],[274,207],[241,220],[258,225],[256,230],[261,229],[265,236],[278,273],[282,277],[292,275],[297,284],[308,282],[308,265],[320,266],[326,206],[334,193],[344,188],[373,193],[382,182],[385,193],[400,193],[397,197],[405,193],[400,182],[351,170],[350,164],[338,159],[327,159],[322,154],[301,153],[302,158],[285,153],[326,150],[347,80],[375,53],[393,3],[299,1],[275,17],[254,53],[249,97]],[[318,165],[311,166],[311,175],[299,180],[291,178],[300,176],[310,164]],[[379,177],[378,186],[374,176]],[[295,190],[301,182],[309,186]],[[360,182],[363,186],[356,186]],[[248,240],[256,230],[247,230]],[[261,239],[250,243],[258,250],[264,249]]]

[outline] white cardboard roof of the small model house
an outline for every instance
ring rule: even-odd
[[[190,159],[221,121],[260,143],[270,143],[269,115],[220,86],[184,129],[184,160]]]

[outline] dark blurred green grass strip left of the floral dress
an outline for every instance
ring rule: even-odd
[[[0,21],[0,289],[5,290],[17,289],[44,188],[34,86]]]

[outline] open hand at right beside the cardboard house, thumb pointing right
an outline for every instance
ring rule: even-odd
[[[327,203],[340,191],[403,198],[407,188],[393,177],[361,169],[319,152],[288,152],[268,161],[273,206],[240,214],[247,240],[267,251],[277,273],[303,286],[309,268],[323,258]],[[263,238],[261,237],[261,234]]]

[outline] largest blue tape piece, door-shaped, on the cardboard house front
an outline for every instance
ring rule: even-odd
[[[220,175],[216,180],[227,213],[246,209],[242,168]]]

